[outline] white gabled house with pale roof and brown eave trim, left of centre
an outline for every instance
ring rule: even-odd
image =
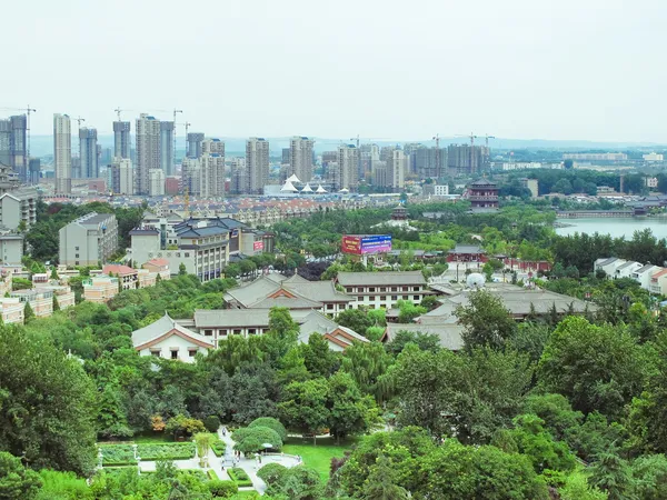
[[[203,336],[177,323],[169,314],[132,332],[132,346],[140,356],[155,356],[195,362],[197,353],[205,354],[213,343]]]

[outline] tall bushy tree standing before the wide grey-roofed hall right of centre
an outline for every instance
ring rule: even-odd
[[[499,349],[515,331],[516,324],[500,298],[486,290],[468,296],[468,304],[455,311],[464,327],[464,344],[468,351],[488,346]]]

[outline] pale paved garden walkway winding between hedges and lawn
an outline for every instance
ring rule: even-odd
[[[222,479],[222,480],[231,479],[229,477],[229,474],[227,473],[227,469],[233,467],[235,442],[231,439],[231,437],[229,436],[229,432],[227,432],[227,436],[222,436],[222,428],[218,429],[218,436],[220,437],[220,440],[225,441],[225,443],[227,444],[227,449],[225,450],[225,454],[222,457],[216,457],[216,453],[213,453],[213,450],[209,449],[208,454],[207,454],[208,463],[209,463],[208,468],[205,469],[205,468],[199,467],[199,458],[193,458],[193,459],[188,459],[188,460],[173,460],[173,464],[179,469],[197,469],[197,470],[201,470],[203,473],[207,473],[208,469],[212,469],[216,471],[216,474],[218,476],[219,479]],[[288,456],[288,454],[286,454],[286,456],[282,456],[282,454],[262,456],[261,457],[261,466],[265,466],[267,463],[280,463],[281,466],[285,466],[285,467],[295,467],[299,462],[296,457]],[[255,458],[245,458],[241,454],[241,458],[240,458],[237,467],[240,467],[241,469],[243,469],[246,471],[246,473],[250,477],[250,480],[252,481],[252,488],[240,488],[240,490],[255,489],[259,492],[259,494],[265,493],[267,486],[261,479],[259,479],[257,477],[257,470],[259,468],[261,468],[261,466],[258,467],[258,463]],[[142,460],[139,467],[140,467],[141,471],[146,471],[146,472],[155,471],[156,462]],[[225,467],[225,470],[222,469],[222,467]]]

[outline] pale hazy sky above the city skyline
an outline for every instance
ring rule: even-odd
[[[109,133],[120,106],[218,137],[667,142],[666,21],[664,0],[3,2],[0,107],[37,108],[33,133],[53,112]]]

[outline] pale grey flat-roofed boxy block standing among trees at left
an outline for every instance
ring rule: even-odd
[[[97,266],[118,251],[118,222],[113,213],[90,212],[60,229],[60,263]]]

